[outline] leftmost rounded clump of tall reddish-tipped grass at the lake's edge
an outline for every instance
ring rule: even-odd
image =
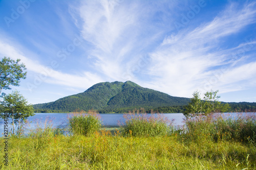
[[[101,128],[97,114],[79,114],[69,118],[70,132],[75,135],[89,136]]]

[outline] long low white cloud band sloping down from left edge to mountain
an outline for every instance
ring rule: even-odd
[[[27,70],[33,71],[35,78],[33,82],[28,82],[28,88],[36,88],[41,83],[58,84],[68,87],[76,87],[84,89],[91,85],[102,81],[97,74],[84,71],[80,75],[65,74],[60,71],[54,70],[53,66],[45,66],[37,61],[26,57],[25,54],[16,50],[16,48],[10,44],[0,41],[0,52],[2,56],[10,57],[14,60],[19,58],[21,62],[25,63]]]

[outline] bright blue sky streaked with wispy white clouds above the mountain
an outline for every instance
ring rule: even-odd
[[[0,0],[0,11],[0,59],[26,65],[11,88],[31,104],[128,80],[256,102],[256,1]]]

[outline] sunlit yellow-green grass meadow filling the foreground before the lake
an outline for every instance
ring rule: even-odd
[[[53,128],[48,129],[49,127],[46,126],[37,130],[38,134],[35,131],[35,134],[30,136],[10,137],[9,166],[5,167],[1,164],[0,167],[1,169],[255,169],[256,145],[253,143],[253,137],[250,136],[251,139],[247,137],[248,140],[240,138],[232,140],[230,136],[215,140],[214,134],[207,134],[208,132],[225,133],[224,127],[226,129],[237,127],[233,129],[243,130],[246,127],[253,129],[256,126],[251,124],[255,120],[253,117],[241,117],[242,119],[245,124],[232,119],[220,118],[217,121],[213,117],[201,117],[200,120],[188,119],[186,130],[173,130],[171,134],[154,137],[144,135],[138,137],[132,134],[123,136],[123,132],[119,131],[122,128],[101,129],[87,136],[62,135],[54,133]],[[222,121],[224,122],[221,124]],[[234,122],[228,124],[230,121]],[[252,122],[246,124],[250,121]],[[238,128],[238,124],[243,126]],[[212,131],[214,129],[216,131]],[[110,130],[113,130],[114,134]],[[4,147],[4,139],[0,140]],[[4,153],[0,152],[0,157],[3,158],[3,155]]]

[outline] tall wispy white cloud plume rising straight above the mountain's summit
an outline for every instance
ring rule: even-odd
[[[83,38],[95,47],[90,55],[96,59],[93,64],[109,80],[125,79],[124,72],[164,33],[151,22],[160,9],[146,3],[118,2],[87,1],[79,8]]]

